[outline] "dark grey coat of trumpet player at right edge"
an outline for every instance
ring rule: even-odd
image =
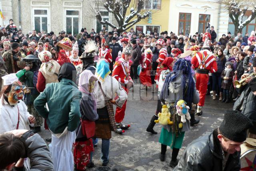
[[[238,91],[241,95],[234,103],[233,110],[240,110],[242,106],[242,111],[240,111],[256,122],[256,95],[253,94],[248,84],[243,85]],[[254,134],[256,134],[256,130]]]

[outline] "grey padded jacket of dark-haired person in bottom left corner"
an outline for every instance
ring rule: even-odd
[[[54,171],[51,153],[44,139],[32,131],[22,135],[26,141],[28,158],[30,159],[29,171]]]

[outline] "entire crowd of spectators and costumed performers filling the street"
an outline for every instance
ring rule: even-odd
[[[136,84],[141,91],[157,89],[146,131],[157,134],[154,125],[163,125],[160,160],[170,146],[174,170],[239,170],[240,145],[255,137],[254,31],[244,37],[228,32],[218,42],[213,26],[191,36],[105,26],[99,33],[24,34],[10,19],[0,38],[0,170],[86,170],[94,167],[98,139],[107,166],[112,131],[129,130],[124,116]],[[196,115],[203,114],[206,95],[234,101],[233,110],[210,135],[190,143],[179,161],[185,132],[200,122]],[[51,133],[49,148],[37,134],[43,124]]]

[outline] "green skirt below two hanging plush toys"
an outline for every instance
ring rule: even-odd
[[[173,147],[180,149],[182,147],[184,135],[185,132],[180,132],[178,133],[178,137],[176,137],[176,133],[172,133],[172,131],[168,132],[166,129],[162,128],[159,142],[170,146],[172,149]]]

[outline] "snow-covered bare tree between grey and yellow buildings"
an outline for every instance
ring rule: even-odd
[[[145,2],[148,0],[96,0],[95,4],[91,4],[91,11],[94,12],[95,18],[101,23],[112,28],[117,28],[118,32],[128,30],[140,20],[152,15],[151,10],[144,9]],[[104,7],[116,19],[118,25],[111,21],[103,20],[101,15],[101,7]],[[126,12],[129,10],[128,16]]]

